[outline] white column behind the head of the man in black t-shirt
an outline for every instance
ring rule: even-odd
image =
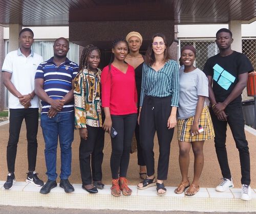
[[[233,34],[233,43],[231,44],[231,49],[242,53],[242,21],[229,21],[228,28]]]

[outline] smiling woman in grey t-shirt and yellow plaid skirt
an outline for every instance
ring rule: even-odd
[[[179,163],[182,181],[175,189],[176,194],[187,191],[185,195],[193,196],[199,191],[199,178],[203,170],[204,140],[214,137],[209,109],[206,105],[208,100],[208,80],[202,70],[194,66],[196,49],[187,45],[181,50],[181,63],[184,68],[180,69],[180,97],[178,108],[178,140],[179,140]],[[194,179],[190,184],[187,174],[189,166],[189,151],[192,146],[194,162]]]

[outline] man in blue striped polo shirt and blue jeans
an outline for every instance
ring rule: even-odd
[[[48,181],[40,189],[50,193],[57,186],[56,156],[58,137],[61,154],[59,186],[66,193],[74,191],[68,178],[71,174],[71,144],[74,139],[73,82],[78,65],[67,58],[69,41],[58,38],[53,45],[54,56],[39,64],[35,75],[35,93],[41,99],[41,128],[45,139]]]

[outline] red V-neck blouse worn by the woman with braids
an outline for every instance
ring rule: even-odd
[[[126,73],[111,64],[105,66],[101,73],[101,101],[102,107],[110,107],[113,115],[137,113],[137,90],[135,71],[128,64]]]

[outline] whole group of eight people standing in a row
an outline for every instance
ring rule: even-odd
[[[228,29],[217,32],[216,43],[220,53],[208,59],[204,71],[195,67],[196,49],[191,45],[182,48],[182,66],[179,68],[179,64],[171,59],[168,41],[161,33],[153,35],[145,56],[139,53],[142,44],[140,33],[130,32],[125,39],[115,39],[112,42],[111,61],[102,72],[98,68],[100,50],[95,45],[90,44],[83,49],[78,66],[67,58],[69,42],[65,38],[55,40],[54,56],[42,63],[41,57],[31,51],[31,29],[20,31],[19,40],[20,48],[9,53],[3,65],[4,84],[13,99],[9,100],[9,173],[4,184],[6,189],[10,189],[15,182],[16,148],[25,118],[29,159],[26,181],[42,186],[41,194],[48,194],[57,186],[58,138],[61,150],[59,185],[66,193],[74,191],[68,180],[71,174],[74,124],[79,129],[81,139],[79,160],[82,188],[91,194],[104,187],[101,170],[104,132],[111,134],[112,142],[111,194],[116,197],[121,196],[121,193],[125,196],[132,194],[126,174],[135,132],[139,175],[143,179],[137,187],[145,189],[156,186],[157,195],[165,195],[163,181],[167,179],[170,142],[176,125],[182,179],[175,193],[185,192],[185,195],[193,196],[199,191],[204,163],[203,144],[213,137],[223,175],[223,182],[216,190],[224,192],[233,187],[225,148],[228,123],[240,154],[241,198],[250,200],[250,162],[243,127],[241,93],[248,72],[253,67],[245,55],[231,50],[232,33]],[[28,65],[29,60],[33,62]],[[24,70],[29,72],[30,79],[27,81],[30,82],[24,82],[24,86],[21,86],[20,78],[26,79]],[[28,84],[30,88],[26,87]],[[48,181],[45,184],[35,172],[39,107],[37,97],[42,104],[41,128],[46,144]],[[36,104],[32,105],[33,102]],[[32,111],[33,118],[30,116]],[[29,121],[32,119],[33,127]],[[159,144],[157,177],[153,151],[155,133]],[[194,178],[191,183],[188,180],[190,147],[195,155]]]

